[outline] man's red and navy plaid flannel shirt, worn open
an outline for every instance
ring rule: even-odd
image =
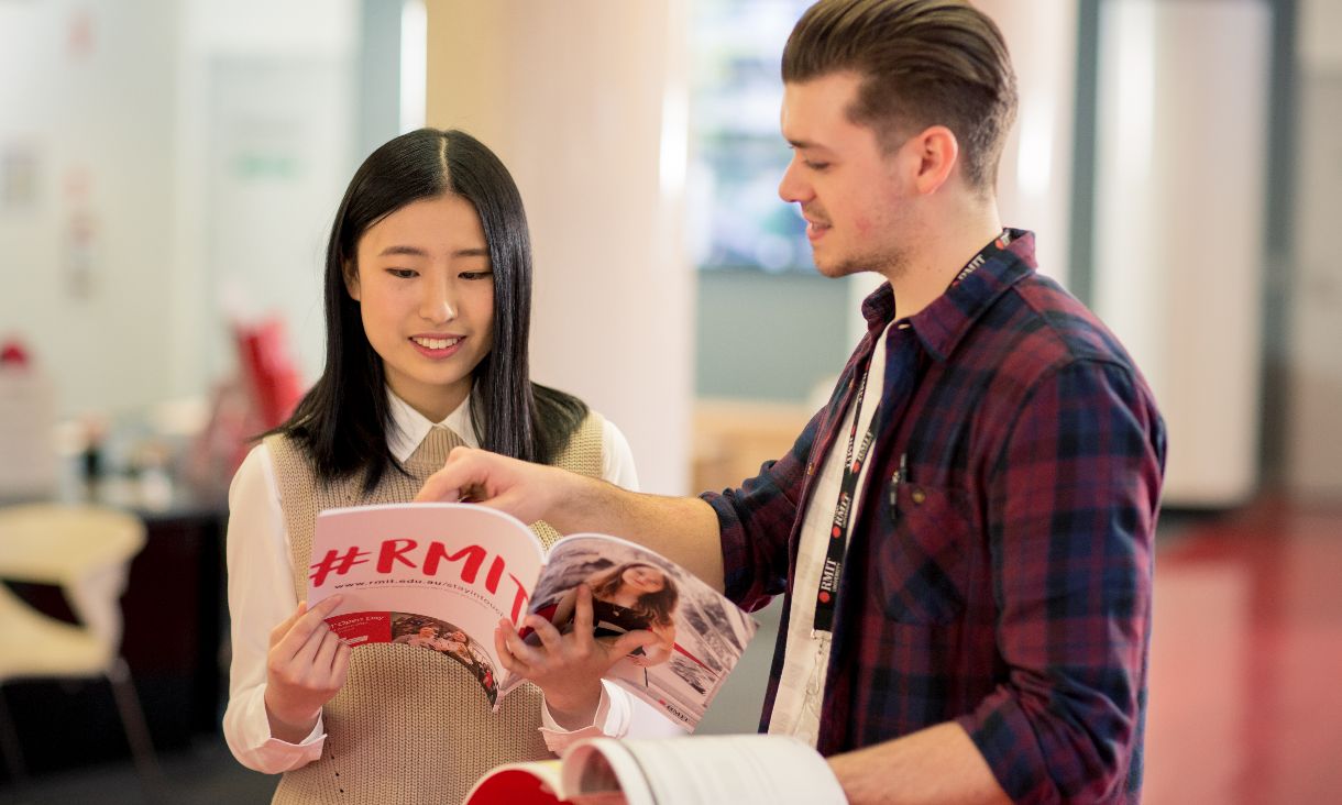
[[[1114,335],[1035,272],[1033,235],[1008,236],[911,327],[888,329],[817,749],[956,720],[1017,801],[1134,802],[1165,429]],[[816,594],[792,589],[798,530],[807,506],[835,504],[811,487],[894,317],[888,283],[863,315],[867,335],[792,451],[703,495],[727,594],[746,608]]]

